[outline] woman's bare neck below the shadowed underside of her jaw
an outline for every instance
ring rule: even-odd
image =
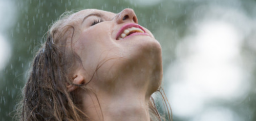
[[[95,93],[84,95],[82,110],[90,121],[150,121],[149,100],[145,100],[145,96],[129,93],[122,96],[103,96]]]

